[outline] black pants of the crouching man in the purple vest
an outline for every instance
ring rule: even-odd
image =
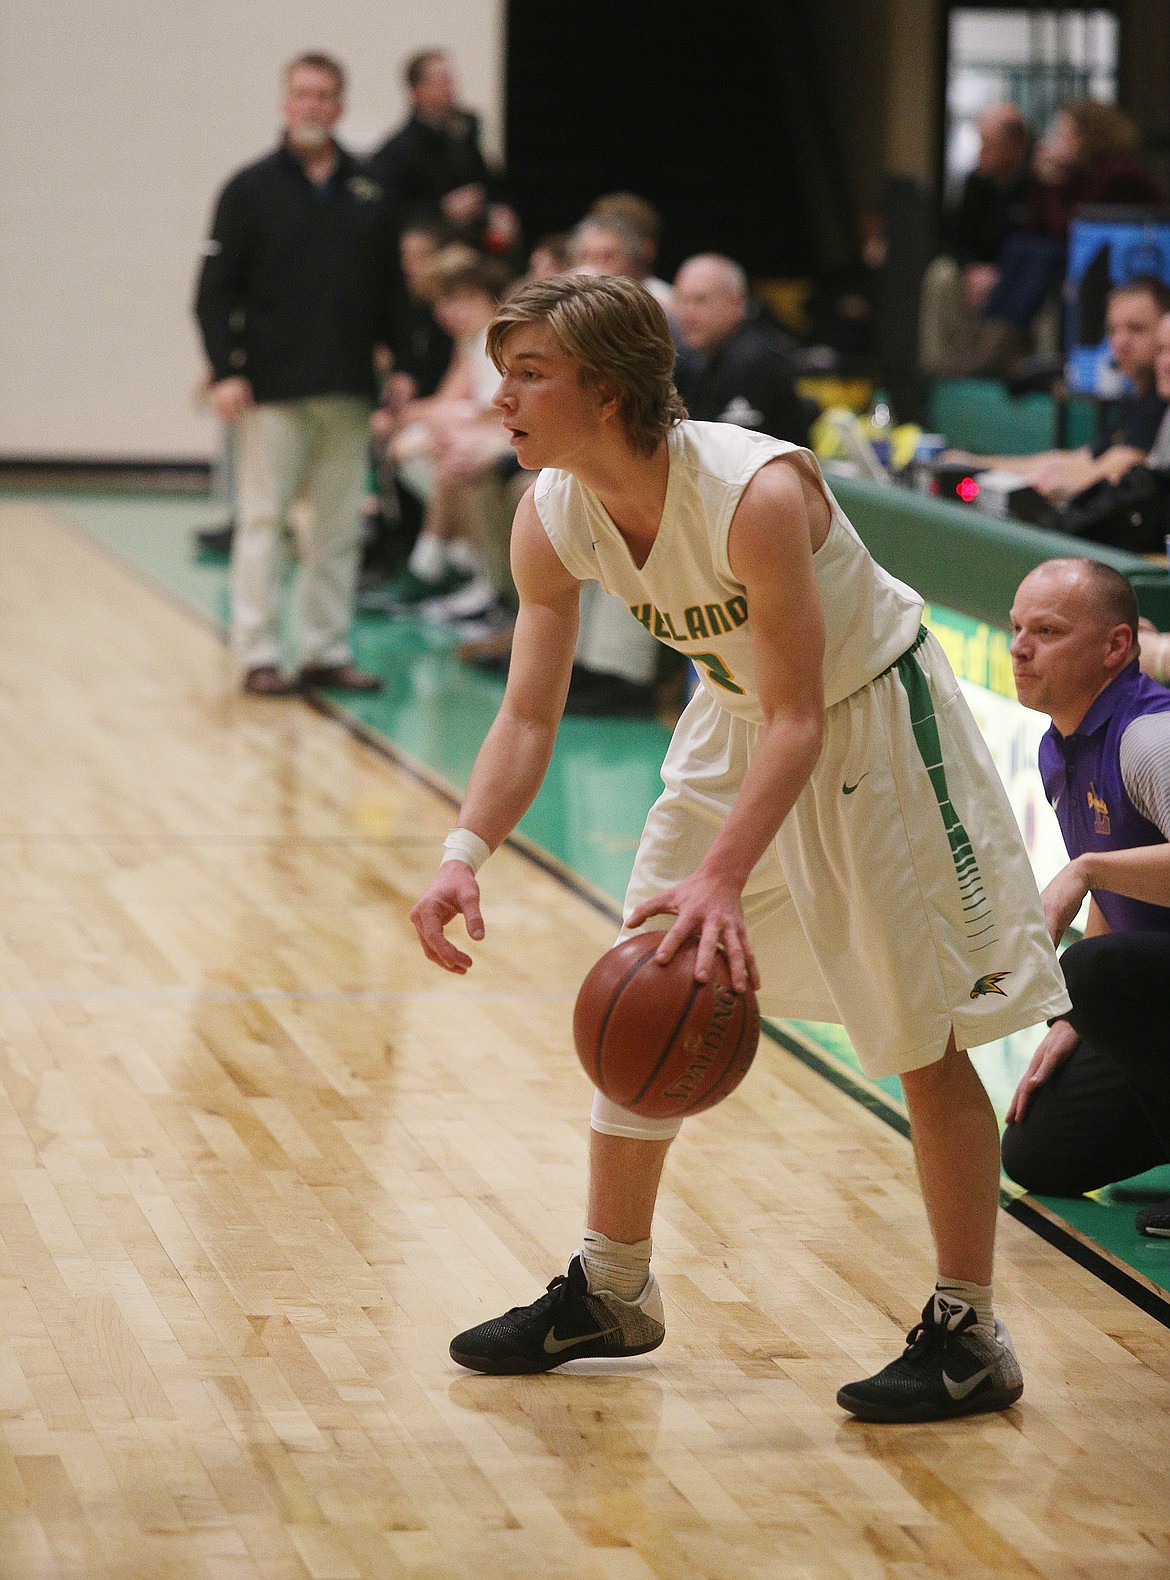
[[[1061,964],[1082,1041],[1003,1139],[1006,1174],[1042,1196],[1170,1163],[1170,934],[1083,939]]]

